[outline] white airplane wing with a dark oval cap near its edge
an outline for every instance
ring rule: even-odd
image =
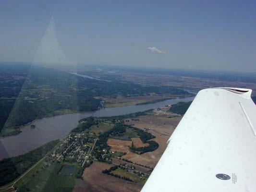
[[[252,90],[198,92],[141,192],[256,192]]]

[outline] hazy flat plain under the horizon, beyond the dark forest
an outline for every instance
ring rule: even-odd
[[[80,69],[80,68],[79,68]],[[140,84],[176,86],[201,90],[209,87],[241,87],[256,90],[256,73],[202,70],[177,70],[157,68],[81,67],[79,74],[107,80]]]

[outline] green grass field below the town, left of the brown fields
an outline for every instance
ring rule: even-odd
[[[49,153],[61,143],[62,141]],[[76,182],[76,166],[70,163],[47,166],[45,160],[43,159],[29,170],[22,179],[15,183],[14,187],[19,188],[20,192],[72,192]]]

